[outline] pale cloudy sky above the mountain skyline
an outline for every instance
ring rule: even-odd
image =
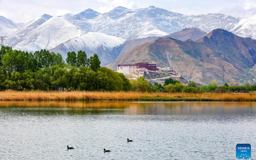
[[[77,14],[88,8],[105,13],[117,6],[140,9],[156,6],[181,14],[225,13],[247,18],[256,14],[256,0],[0,0],[0,15],[26,23],[43,14]]]

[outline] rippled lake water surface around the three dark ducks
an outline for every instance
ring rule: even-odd
[[[238,143],[256,159],[256,103],[1,102],[0,135],[3,160],[236,159]]]

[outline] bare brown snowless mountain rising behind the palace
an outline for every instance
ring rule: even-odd
[[[246,70],[255,65],[255,46],[256,40],[215,29],[197,42],[157,38],[135,47],[107,67],[114,69],[117,64],[153,60],[157,65],[170,65],[183,78],[196,83],[208,84],[215,79],[222,84],[223,73],[224,82],[246,83]]]

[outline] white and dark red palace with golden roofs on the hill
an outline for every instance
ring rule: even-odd
[[[136,62],[134,64],[118,64],[117,72],[123,73],[124,75],[136,74],[143,76],[144,72],[148,71],[169,71],[170,66],[156,66],[154,62]]]

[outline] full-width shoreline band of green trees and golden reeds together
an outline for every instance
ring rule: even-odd
[[[0,90],[1,100],[256,100],[254,96],[256,85],[234,87],[226,83],[219,86],[215,80],[212,80],[210,84],[200,87],[194,82],[185,86],[172,78],[166,79],[163,85],[148,84],[144,77],[128,80],[122,73],[100,67],[97,54],[87,58],[83,51],[68,52],[65,63],[59,53],[55,54],[47,50],[23,52],[8,46],[2,46],[0,50]],[[52,98],[51,95],[62,93],[57,91],[70,92],[63,92],[66,96],[62,98],[61,96]],[[43,93],[51,94],[40,98],[40,94]],[[92,93],[100,98],[72,97],[74,93],[79,95]],[[7,97],[4,97],[4,94],[7,94]],[[38,98],[33,96],[29,98],[30,94],[36,94]],[[98,94],[102,96],[97,96]],[[107,94],[113,94],[113,97]],[[15,95],[19,95],[20,98]]]

